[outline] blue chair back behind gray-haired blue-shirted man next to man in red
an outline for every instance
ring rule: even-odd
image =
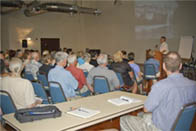
[[[66,102],[64,91],[60,83],[55,81],[49,81],[49,91],[53,104]]]

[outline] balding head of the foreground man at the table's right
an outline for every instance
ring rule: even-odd
[[[182,60],[177,52],[169,52],[164,58],[165,68],[170,72],[177,72],[181,69]]]

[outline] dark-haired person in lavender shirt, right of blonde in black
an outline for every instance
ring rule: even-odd
[[[130,52],[128,54],[128,60],[129,66],[131,66],[131,68],[133,69],[137,81],[141,81],[143,73],[140,71],[139,65],[135,63],[135,54],[133,52]]]

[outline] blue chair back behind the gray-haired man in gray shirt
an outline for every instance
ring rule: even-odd
[[[110,92],[109,82],[105,76],[94,76],[93,87],[95,94]]]

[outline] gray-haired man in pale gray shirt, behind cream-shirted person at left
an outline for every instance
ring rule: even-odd
[[[25,66],[25,72],[30,72],[35,79],[37,79],[37,72],[39,71],[39,68],[42,66],[39,60],[39,53],[33,52],[31,62]]]

